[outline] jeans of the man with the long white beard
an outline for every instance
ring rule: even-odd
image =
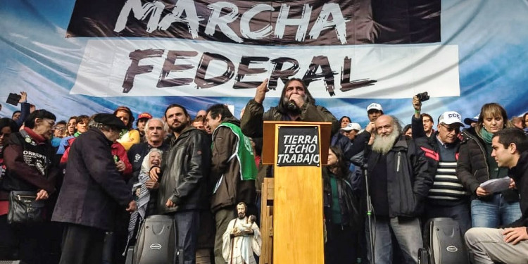
[[[418,249],[423,246],[422,231],[420,230],[420,220],[418,218],[400,220],[398,218],[377,217],[374,228],[374,258],[376,264],[392,263],[393,241],[391,233],[394,233],[394,237],[396,237],[394,242],[399,244],[405,263],[418,263]]]

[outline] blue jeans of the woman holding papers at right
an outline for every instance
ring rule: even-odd
[[[521,218],[519,202],[508,203],[502,194],[492,194],[490,200],[471,201],[471,218],[473,227],[496,228],[508,225]]]

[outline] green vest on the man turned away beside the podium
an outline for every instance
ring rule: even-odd
[[[240,180],[256,180],[257,175],[257,166],[255,164],[255,156],[253,155],[253,147],[251,146],[251,142],[249,141],[249,138],[246,137],[239,126],[234,125],[230,122],[222,122],[218,127],[229,127],[233,134],[237,136],[237,147],[230,156],[229,161],[231,161],[233,158],[237,158],[240,164]],[[215,131],[213,131],[213,139],[215,138],[215,132],[218,130],[218,127],[216,127]],[[213,142],[214,144],[214,142]],[[213,147],[213,144],[211,144],[211,148]]]

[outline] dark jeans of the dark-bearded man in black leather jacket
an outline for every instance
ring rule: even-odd
[[[174,214],[177,227],[176,250],[179,251],[175,264],[196,264],[196,242],[200,227],[199,210],[177,211]]]

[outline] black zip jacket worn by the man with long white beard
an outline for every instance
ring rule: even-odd
[[[389,217],[416,217],[422,213],[423,201],[433,184],[431,161],[420,146],[427,142],[400,137],[386,153]],[[429,146],[430,148],[430,146]],[[381,153],[365,149],[368,175],[371,175]],[[371,184],[370,188],[375,185]]]

